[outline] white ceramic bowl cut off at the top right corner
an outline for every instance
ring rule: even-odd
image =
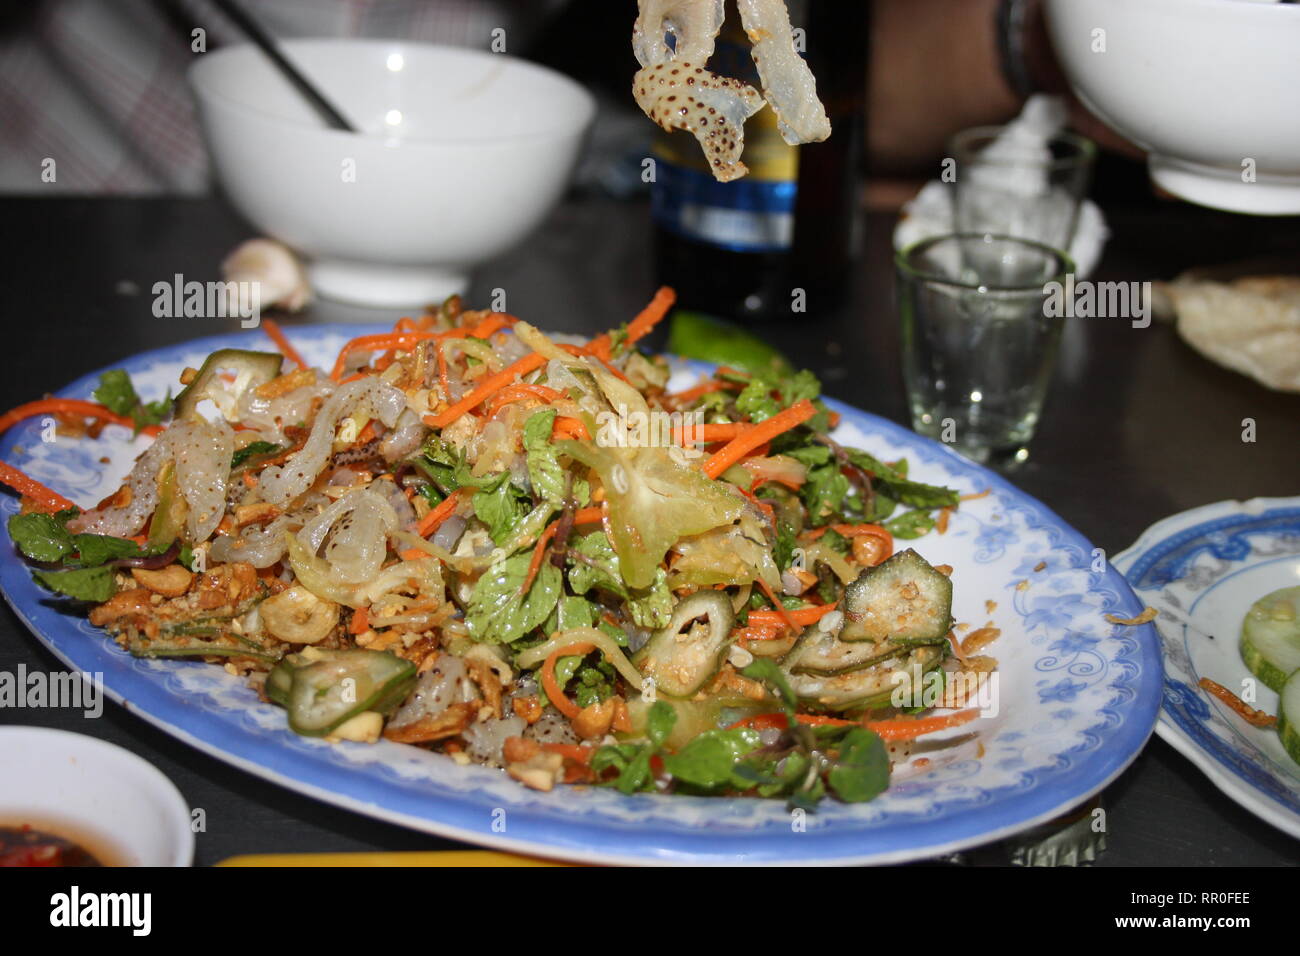
[[[1046,0],[1046,17],[1075,94],[1148,151],[1157,185],[1300,213],[1300,5]]]

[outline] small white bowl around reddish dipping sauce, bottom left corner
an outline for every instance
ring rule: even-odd
[[[0,727],[0,823],[31,823],[127,866],[188,866],[190,806],[153,765],[84,734]]]

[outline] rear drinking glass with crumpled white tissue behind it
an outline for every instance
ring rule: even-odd
[[[1069,131],[1045,143],[1000,139],[976,126],[949,140],[957,160],[953,222],[958,233],[993,233],[1070,248],[1097,147]]]

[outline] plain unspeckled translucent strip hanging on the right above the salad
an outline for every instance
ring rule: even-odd
[[[776,127],[790,146],[819,143],[831,135],[831,121],[816,95],[816,79],[794,49],[790,14],[784,0],[736,0],[740,22],[754,44],[754,65],[763,96],[776,113]]]

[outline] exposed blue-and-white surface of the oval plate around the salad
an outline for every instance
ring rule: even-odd
[[[291,338],[328,368],[347,338],[367,332],[373,328],[315,326],[292,329]],[[156,399],[186,365],[226,347],[270,346],[257,332],[216,336],[118,367],[143,398]],[[684,364],[679,381],[689,385],[702,371]],[[95,384],[92,373],[58,394],[88,397]],[[884,864],[988,843],[1071,810],[1128,766],[1154,724],[1154,630],[1104,617],[1136,615],[1141,601],[1079,532],[1001,477],[890,421],[829,405],[842,416],[842,444],[906,458],[922,481],[989,492],[963,502],[946,533],[909,544],[953,567],[958,622],[1001,630],[983,652],[998,659],[998,693],[979,719],[936,735],[946,743],[927,744],[928,763],[914,757],[897,766],[890,788],[866,804],[828,800],[802,816],[776,800],[624,796],[602,787],[542,793],[416,747],[329,745],[292,734],[282,710],[221,667],[130,657],[36,587],[8,542],[0,588],[55,654],[101,674],[113,700],[185,743],[306,796],[499,849],[586,862]],[[148,441],[133,442],[117,427],[98,438],[40,437],[39,420],[14,428],[0,440],[0,458],[82,505],[112,493]],[[4,515],[17,506],[0,498]]]

